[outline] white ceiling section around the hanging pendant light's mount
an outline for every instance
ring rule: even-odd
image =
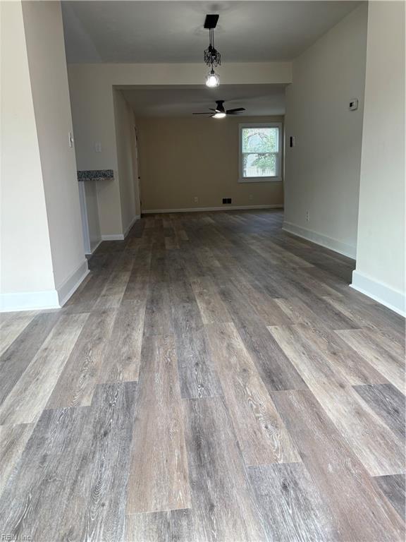
[[[68,62],[199,62],[206,13],[219,13],[216,48],[226,62],[291,60],[359,1],[62,2]]]

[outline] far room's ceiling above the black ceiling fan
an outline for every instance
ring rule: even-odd
[[[191,116],[226,100],[226,109],[245,107],[240,116],[282,115],[285,113],[283,85],[204,85],[179,87],[125,88],[123,94],[137,116]]]

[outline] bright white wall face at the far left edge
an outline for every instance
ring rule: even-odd
[[[23,10],[1,2],[1,301],[54,293]],[[18,303],[19,301],[16,301]]]

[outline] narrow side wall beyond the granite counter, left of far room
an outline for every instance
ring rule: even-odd
[[[125,234],[137,215],[135,198],[135,171],[133,145],[135,133],[133,109],[126,102],[121,90],[114,90],[114,118],[116,123],[118,183],[120,186],[121,220]]]

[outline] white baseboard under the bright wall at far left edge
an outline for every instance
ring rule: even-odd
[[[0,294],[0,312],[40,311],[60,308],[56,290],[21,291],[13,294]]]

